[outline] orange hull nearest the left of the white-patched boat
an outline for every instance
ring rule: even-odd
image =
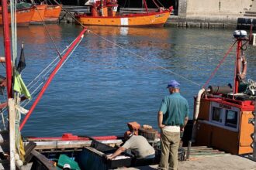
[[[44,14],[44,21],[57,22],[61,15],[61,5],[48,5]]]

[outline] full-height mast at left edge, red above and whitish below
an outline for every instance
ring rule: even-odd
[[[2,22],[4,32],[4,49],[5,49],[5,70],[7,80],[7,97],[8,97],[8,114],[9,114],[9,146],[10,146],[10,169],[16,169],[15,163],[15,110],[12,93],[12,61],[11,61],[11,41],[9,36],[9,19],[7,0],[2,0]]]

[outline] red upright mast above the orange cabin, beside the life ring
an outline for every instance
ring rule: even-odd
[[[237,59],[236,59],[236,66],[235,66],[235,78],[234,78],[234,93],[238,93],[238,87],[239,87],[239,78],[238,78],[238,72],[240,71],[240,54],[242,49],[242,39],[237,39]]]

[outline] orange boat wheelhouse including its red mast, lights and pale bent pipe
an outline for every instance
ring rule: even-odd
[[[246,81],[244,77],[247,62],[243,51],[249,42],[247,33],[236,31],[234,37],[237,39],[234,43],[237,44],[234,87],[230,84],[225,87],[209,86],[199,91],[195,98],[192,141],[195,145],[243,155],[254,151],[256,83]]]

